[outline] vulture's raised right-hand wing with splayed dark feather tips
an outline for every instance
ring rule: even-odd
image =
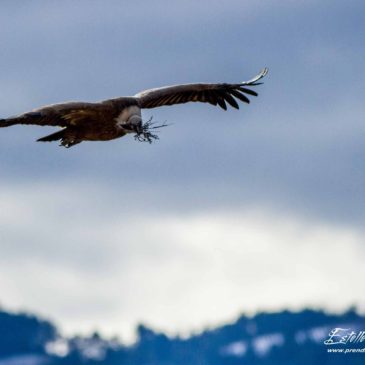
[[[268,72],[264,68],[256,77],[239,84],[183,84],[142,91],[135,95],[141,108],[156,108],[163,105],[182,104],[189,101],[219,105],[227,110],[227,105],[239,109],[236,99],[245,103],[250,100],[245,95],[257,96],[247,86],[256,86]]]

